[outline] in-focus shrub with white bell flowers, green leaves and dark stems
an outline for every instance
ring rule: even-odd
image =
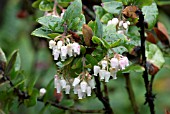
[[[165,62],[161,52],[163,47],[145,41],[148,38],[145,30],[151,30],[157,22],[158,9],[155,2],[102,0],[101,6],[93,6],[95,20],[88,23],[82,11],[81,0],[37,0],[33,7],[45,11],[44,16],[37,19],[41,27],[35,29],[32,35],[47,39],[56,65],[52,82],[57,102],[61,101],[62,93],[74,93],[78,99],[96,94],[105,107],[105,113],[112,114],[107,83],[121,78],[118,74],[124,75],[128,81],[129,74],[135,71],[143,73],[146,103],[154,114],[151,100],[154,95],[149,88],[152,80],[149,80],[148,76],[155,76]],[[13,55],[14,60],[16,56],[17,52]],[[2,75],[4,80],[10,81],[6,74]],[[101,91],[101,84],[104,85],[106,96]],[[132,88],[128,87],[129,95],[132,95]],[[30,96],[33,93],[28,92],[28,96],[22,96],[23,101],[31,98],[43,101],[46,93],[46,89],[42,88],[40,93],[32,98]],[[135,98],[129,97],[134,105]],[[53,105],[71,110],[58,104]],[[135,113],[138,113],[137,107],[133,107]]]

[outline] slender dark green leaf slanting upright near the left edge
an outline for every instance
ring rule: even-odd
[[[11,54],[11,58],[7,64],[7,67],[5,69],[5,73],[4,75],[9,75],[9,73],[11,72],[12,68],[14,67],[15,65],[15,62],[16,62],[16,58],[17,58],[17,53],[18,53],[18,50],[15,50],[13,51],[13,53]]]

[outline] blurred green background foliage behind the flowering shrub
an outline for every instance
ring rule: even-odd
[[[1,1],[2,2],[2,1]],[[3,2],[2,2],[3,3]],[[7,0],[3,3],[3,10],[1,10],[0,18],[0,47],[5,52],[6,56],[18,49],[21,56],[23,74],[26,78],[26,83],[36,80],[36,87],[46,87],[55,74],[55,63],[52,61],[51,52],[48,49],[48,44],[45,39],[38,39],[31,36],[31,32],[38,26],[36,18],[43,15],[43,12],[33,9],[33,13],[24,12],[24,0]],[[1,4],[1,3],[0,3]],[[170,34],[170,14],[167,3],[158,2],[159,18]],[[0,7],[2,9],[2,6]],[[165,55],[165,64],[158,72],[154,81],[153,92],[156,94],[155,110],[156,114],[163,114],[165,110],[170,110],[170,54]],[[144,104],[145,88],[142,74],[130,74],[133,89],[136,96],[136,101],[141,114],[149,114],[149,108]],[[111,106],[115,114],[132,114],[128,94],[125,88],[125,79],[119,76],[117,80],[111,80],[108,83],[109,98]],[[54,99],[54,89],[51,86],[51,99]],[[64,96],[63,101],[67,100],[68,96]],[[76,98],[75,98],[76,99]],[[1,103],[1,101],[0,101]],[[63,111],[53,106],[46,106],[41,102],[37,102],[34,107],[26,107],[18,105],[17,99],[13,102],[14,105],[10,108],[10,114],[63,114]],[[16,105],[15,105],[16,104]],[[88,97],[83,100],[76,100],[75,107],[81,109],[102,109],[102,103],[95,97]],[[0,104],[0,109],[1,109]],[[6,109],[2,109],[6,110]],[[75,114],[75,112],[72,112]]]

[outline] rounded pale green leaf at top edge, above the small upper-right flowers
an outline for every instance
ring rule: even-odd
[[[111,1],[111,2],[104,2],[103,8],[111,13],[111,14],[119,14],[122,10],[123,4],[122,2]]]

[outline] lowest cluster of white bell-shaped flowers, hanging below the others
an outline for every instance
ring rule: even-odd
[[[95,88],[94,78],[90,74],[86,74],[87,79],[81,79],[81,75],[74,78],[74,80],[66,81],[63,77],[58,75],[54,76],[54,86],[57,90],[57,93],[60,93],[62,90],[65,90],[65,94],[70,94],[71,87],[73,88],[74,94],[78,95],[78,99],[91,96],[92,89]],[[83,77],[83,76],[82,76]]]

